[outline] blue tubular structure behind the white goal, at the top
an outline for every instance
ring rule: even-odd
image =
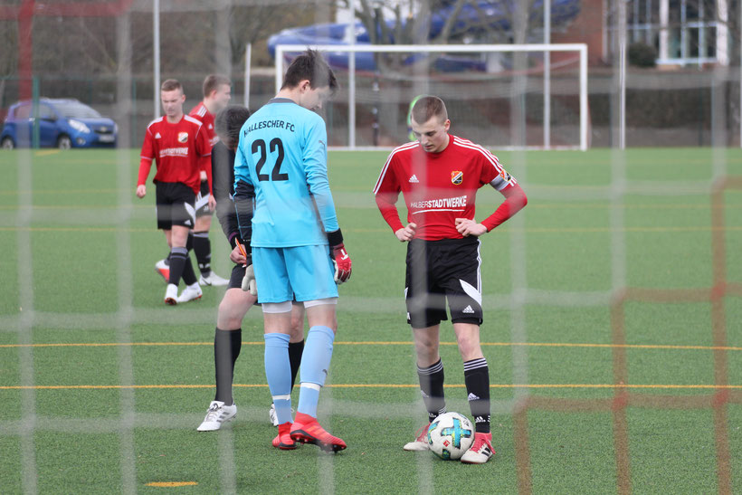
[[[514,3],[518,0],[501,0],[485,1],[480,0],[478,5],[464,5],[454,24],[454,31],[458,33],[477,34],[485,29],[497,29],[502,32],[509,32],[510,17],[509,12],[514,8]],[[533,23],[543,22],[544,0],[536,0],[529,14],[530,21]],[[441,33],[443,25],[452,15],[454,5],[442,7],[431,15],[430,33],[428,39],[435,38]],[[558,26],[566,24],[576,17],[580,12],[579,0],[552,0],[551,2],[551,24]],[[403,21],[404,22],[404,21]],[[395,20],[386,21],[390,33],[395,31]],[[350,36],[353,31],[356,33],[356,44],[370,44],[370,37],[366,27],[360,23],[328,23],[314,24],[310,26],[284,29],[280,33],[273,34],[268,39],[268,50],[271,56],[275,57],[276,46],[279,44],[300,44],[305,46],[313,45],[347,45],[350,44]],[[388,43],[395,43],[394,38]],[[348,53],[347,52],[328,52],[326,53],[328,62],[333,69],[347,69]],[[404,63],[412,64],[426,55],[418,53],[408,57]],[[433,67],[437,71],[484,71],[485,62],[472,60],[471,58],[452,57],[442,55],[433,62]],[[358,52],[356,54],[356,69],[358,71],[375,71],[376,62],[374,54],[371,52]]]

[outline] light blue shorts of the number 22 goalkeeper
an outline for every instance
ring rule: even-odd
[[[335,266],[327,245],[252,247],[259,302],[337,298]]]

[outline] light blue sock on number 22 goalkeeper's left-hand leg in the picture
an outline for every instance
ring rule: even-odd
[[[279,424],[291,421],[291,365],[289,336],[285,333],[267,333],[265,338],[265,378],[276,406]]]

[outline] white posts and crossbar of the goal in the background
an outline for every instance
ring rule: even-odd
[[[312,48],[320,52],[578,52],[579,53],[579,101],[580,101],[580,144],[579,149],[587,149],[587,44],[585,43],[527,43],[527,44],[279,44],[276,46],[276,92],[281,90],[283,82],[283,54],[285,52],[303,52]],[[355,57],[349,58],[348,64],[348,147],[356,147],[356,92],[355,92]],[[550,74],[545,73],[548,78]],[[545,100],[548,100],[548,90],[544,90]],[[545,123],[548,125],[548,123]],[[545,132],[545,134],[547,134]],[[547,138],[545,139],[547,140]],[[548,141],[547,141],[548,142]],[[545,148],[549,148],[545,146]]]

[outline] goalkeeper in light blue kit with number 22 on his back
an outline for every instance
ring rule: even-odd
[[[265,324],[265,376],[279,420],[272,444],[285,450],[296,442],[331,452],[347,446],[317,422],[338,329],[336,283],[351,271],[329,190],[327,129],[312,111],[337,87],[319,52],[300,54],[279,93],[245,122],[234,159],[234,204],[240,233],[252,244]],[[288,345],[294,296],[306,309],[309,333],[292,422]]]

